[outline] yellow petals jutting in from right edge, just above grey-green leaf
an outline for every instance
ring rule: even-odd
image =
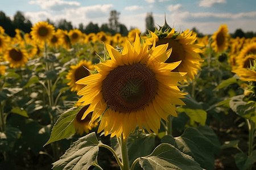
[[[236,73],[238,76],[241,76],[240,80],[242,81],[251,81],[256,82],[256,71],[250,70],[247,68],[240,68],[237,70],[233,70],[233,73]]]

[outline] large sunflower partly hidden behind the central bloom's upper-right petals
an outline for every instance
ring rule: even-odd
[[[171,31],[169,32],[169,30]],[[156,41],[156,46],[168,43],[167,50],[172,48],[172,53],[166,63],[182,61],[173,71],[187,73],[186,78],[195,79],[195,74],[197,74],[197,70],[200,69],[201,62],[203,62],[199,54],[203,52],[199,49],[201,45],[193,44],[197,39],[196,35],[192,35],[192,31],[189,32],[189,29],[183,33],[178,33],[170,27],[164,33],[161,27],[159,31],[155,32],[156,34],[150,32],[151,37],[146,40],[148,44],[151,45],[154,41]]]

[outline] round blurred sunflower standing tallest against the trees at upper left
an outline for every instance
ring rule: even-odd
[[[53,25],[49,25],[48,22],[38,22],[31,30],[32,39],[41,43],[51,40],[53,33],[55,33]]]

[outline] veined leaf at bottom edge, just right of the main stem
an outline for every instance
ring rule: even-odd
[[[155,148],[152,154],[139,158],[139,164],[143,169],[202,169],[189,155],[185,155],[174,146],[162,143]]]

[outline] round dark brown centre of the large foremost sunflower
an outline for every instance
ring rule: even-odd
[[[109,108],[133,112],[147,105],[156,94],[157,80],[141,63],[118,66],[102,81],[102,96]]]

